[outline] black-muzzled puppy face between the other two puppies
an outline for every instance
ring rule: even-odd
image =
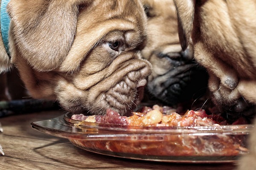
[[[148,43],[143,57],[153,71],[147,89],[162,102],[175,105],[197,98],[207,87],[207,73],[193,61],[192,48],[180,47],[172,0],[143,0],[148,18]]]

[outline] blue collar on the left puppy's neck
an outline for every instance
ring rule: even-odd
[[[1,1],[1,34],[3,39],[4,47],[6,48],[6,52],[9,55],[9,26],[10,26],[10,17],[6,11],[6,6],[9,3],[9,0]]]

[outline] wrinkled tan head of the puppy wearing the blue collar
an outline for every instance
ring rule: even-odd
[[[32,96],[57,99],[73,113],[111,108],[122,115],[138,104],[151,73],[140,54],[146,22],[140,2],[39,1],[29,14],[26,5],[12,0],[8,10],[12,61]]]

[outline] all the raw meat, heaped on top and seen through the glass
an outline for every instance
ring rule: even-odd
[[[74,124],[77,127],[84,125],[84,122],[93,122],[98,125],[110,124],[109,127],[113,127],[112,125],[120,127],[121,125],[125,128],[127,134],[133,129],[136,130],[136,135],[133,134],[134,131],[131,131],[132,134],[126,134],[121,138],[116,137],[114,140],[70,139],[78,147],[86,150],[100,150],[104,154],[114,152],[147,156],[201,157],[238,156],[248,152],[244,144],[246,134],[223,133],[224,129],[221,125],[228,125],[227,121],[220,115],[208,115],[202,109],[178,114],[171,107],[154,105],[152,108],[145,106],[128,117],[120,116],[116,111],[108,109],[105,116],[76,114],[71,119],[80,121],[80,123]],[[236,123],[239,122],[243,122],[243,119],[236,121]],[[83,128],[83,126],[80,128]],[[142,131],[142,133],[137,131],[152,129],[155,131]],[[170,131],[165,132],[164,130]],[[101,133],[100,130],[96,131],[99,134]],[[156,133],[156,131],[159,133]],[[233,129],[230,129],[230,132],[232,131]],[[119,134],[120,132],[113,131],[113,134],[115,133]]]

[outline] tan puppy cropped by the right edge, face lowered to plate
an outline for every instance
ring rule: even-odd
[[[209,90],[221,111],[255,114],[256,1],[174,0],[183,50],[191,43],[195,59],[209,72]],[[191,38],[191,39],[190,39]],[[256,127],[255,127],[256,128]],[[255,129],[256,131],[256,129]],[[256,136],[239,169],[256,169]]]

